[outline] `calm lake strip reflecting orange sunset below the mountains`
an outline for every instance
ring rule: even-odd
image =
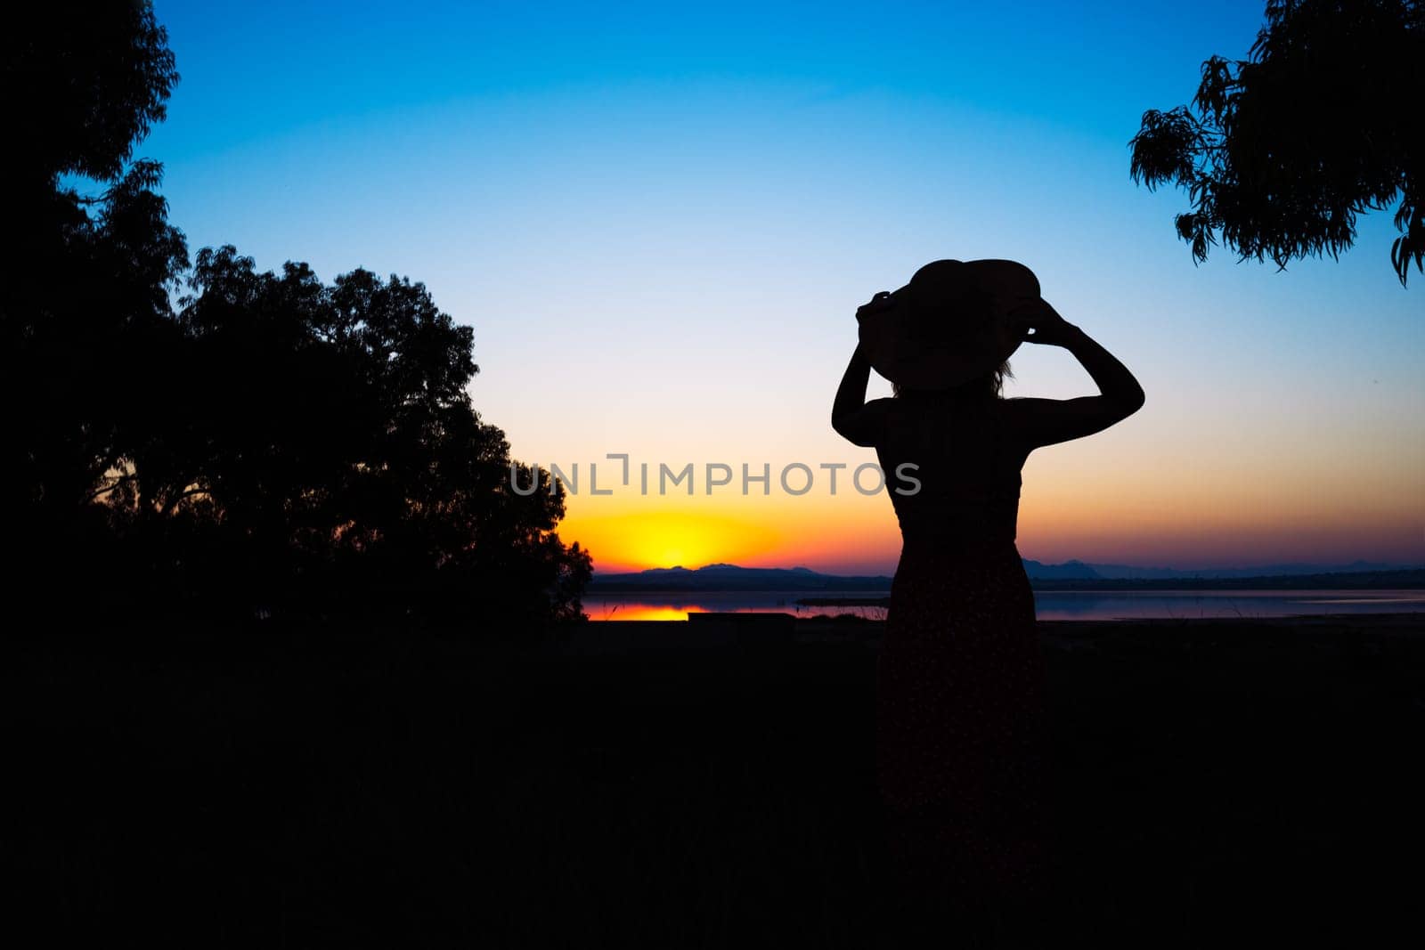
[[[691,612],[852,614],[885,620],[884,607],[799,607],[832,597],[812,591],[598,594],[584,597],[590,620],[687,620]],[[875,598],[886,591],[836,591]],[[1184,617],[1298,617],[1425,611],[1425,591],[1035,591],[1039,620],[1146,620]]]

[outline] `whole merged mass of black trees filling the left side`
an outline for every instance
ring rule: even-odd
[[[513,490],[512,466],[522,486],[542,473],[470,404],[473,330],[405,278],[259,272],[231,246],[190,261],[161,167],[131,161],[177,80],[150,4],[17,20],[0,68],[34,132],[4,157],[0,258],[16,587],[114,618],[581,618],[590,557],[559,538],[561,486]]]

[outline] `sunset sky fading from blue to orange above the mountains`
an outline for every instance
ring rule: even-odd
[[[600,571],[891,573],[891,501],[846,484],[875,454],[831,402],[856,306],[938,258],[1030,265],[1147,392],[1030,456],[1025,557],[1425,563],[1425,275],[1395,279],[1389,214],[1338,262],[1194,266],[1186,197],[1129,179],[1143,111],[1261,10],[158,0],[182,80],[138,155],[192,248],[425,282],[513,454],[579,463],[560,534]],[[1064,350],[1012,363],[1006,395],[1096,392]],[[638,493],[640,463],[690,461],[693,497]],[[707,463],[738,477],[704,494]]]

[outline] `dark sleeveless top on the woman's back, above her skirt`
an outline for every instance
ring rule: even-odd
[[[876,456],[906,546],[1015,541],[1029,453],[1006,430],[1002,410],[1002,399],[892,400]]]

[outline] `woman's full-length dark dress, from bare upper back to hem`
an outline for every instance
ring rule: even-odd
[[[1003,402],[898,399],[878,444],[902,553],[878,659],[876,766],[899,897],[1040,900],[1045,671],[1015,543],[1029,449]],[[919,480],[913,494],[898,494]]]

